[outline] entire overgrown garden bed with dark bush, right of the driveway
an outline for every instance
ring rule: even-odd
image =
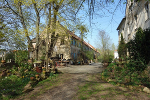
[[[101,79],[123,87],[150,93],[150,30],[138,29],[127,44],[121,35],[119,59],[102,72]],[[128,51],[128,55],[127,55]]]

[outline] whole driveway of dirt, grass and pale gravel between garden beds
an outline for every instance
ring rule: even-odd
[[[39,84],[33,91],[15,100],[150,100],[149,94],[101,80],[103,69],[100,63],[59,70],[64,74]]]

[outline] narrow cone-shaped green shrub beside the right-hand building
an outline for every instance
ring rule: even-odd
[[[119,42],[119,46],[118,46],[118,54],[120,58],[121,57],[126,58],[127,55],[127,48],[122,34],[121,34],[121,41]]]

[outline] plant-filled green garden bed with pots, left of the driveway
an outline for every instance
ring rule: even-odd
[[[56,70],[46,70],[41,65],[34,67],[27,58],[28,51],[20,50],[8,53],[5,61],[1,60],[0,99],[8,100],[32,91],[40,81],[55,76]],[[9,59],[12,62],[6,63]]]

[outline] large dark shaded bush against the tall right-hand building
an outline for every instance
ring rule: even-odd
[[[130,59],[135,61],[141,60],[144,64],[150,61],[150,30],[139,28],[136,32],[135,39],[130,40],[127,44]]]

